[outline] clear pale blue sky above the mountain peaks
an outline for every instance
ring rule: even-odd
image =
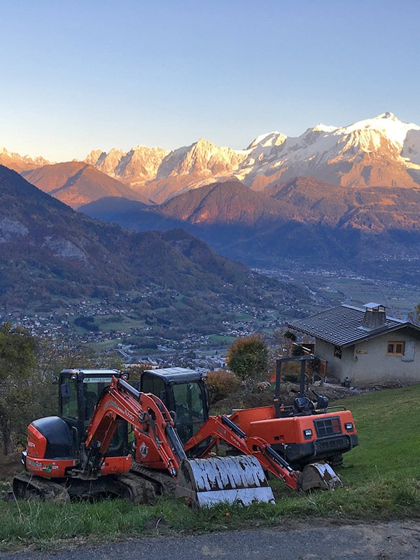
[[[0,146],[20,155],[420,125],[418,0],[0,4]]]

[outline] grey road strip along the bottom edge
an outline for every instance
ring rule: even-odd
[[[60,549],[1,552],[0,560],[417,560],[420,523],[207,533]]]

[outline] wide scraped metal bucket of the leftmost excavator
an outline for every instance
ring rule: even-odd
[[[274,503],[262,467],[252,455],[183,459],[176,496],[190,498],[193,507],[216,503]]]

